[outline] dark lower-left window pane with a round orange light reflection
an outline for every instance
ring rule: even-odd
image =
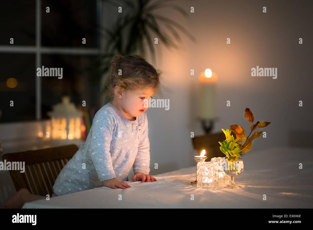
[[[35,55],[0,53],[0,63],[0,122],[35,120]]]

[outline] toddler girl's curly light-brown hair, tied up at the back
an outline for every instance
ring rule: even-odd
[[[107,95],[111,97],[114,97],[115,86],[119,86],[121,91],[151,88],[156,93],[162,74],[139,55],[123,57],[120,54],[115,54],[110,60],[110,72]]]

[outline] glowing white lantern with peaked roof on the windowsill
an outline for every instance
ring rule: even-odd
[[[62,97],[62,103],[53,105],[53,110],[47,112],[50,117],[50,137],[57,139],[81,139],[82,112],[70,103],[68,96]]]

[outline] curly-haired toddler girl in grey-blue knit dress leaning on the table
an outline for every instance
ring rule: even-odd
[[[96,112],[87,140],[59,173],[52,197],[102,186],[130,188],[126,181],[132,166],[132,181],[156,181],[149,175],[146,110],[161,73],[139,55],[118,54],[110,61],[110,71],[107,88],[113,100]],[[5,207],[45,198],[23,188]]]

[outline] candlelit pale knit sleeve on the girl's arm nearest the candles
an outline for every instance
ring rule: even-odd
[[[143,127],[142,137],[138,145],[138,152],[133,164],[134,173],[142,172],[149,174],[150,172],[150,142],[148,137],[148,118],[145,113],[145,126]]]

